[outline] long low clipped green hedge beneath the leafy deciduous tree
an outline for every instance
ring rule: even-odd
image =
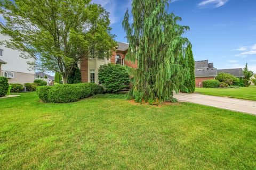
[[[69,103],[102,92],[103,88],[95,83],[59,84],[37,88],[39,98],[46,103]]]

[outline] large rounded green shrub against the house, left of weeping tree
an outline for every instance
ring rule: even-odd
[[[101,65],[99,69],[99,81],[107,92],[115,93],[130,86],[129,71],[119,64]]]

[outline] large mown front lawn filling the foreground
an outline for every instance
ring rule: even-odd
[[[0,99],[1,169],[254,169],[256,116],[123,95]]]

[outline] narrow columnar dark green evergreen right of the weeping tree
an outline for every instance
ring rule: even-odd
[[[189,44],[186,49],[186,59],[188,61],[189,78],[185,81],[184,86],[187,88],[189,94],[195,92],[196,82],[195,82],[195,60],[192,52],[192,45]]]

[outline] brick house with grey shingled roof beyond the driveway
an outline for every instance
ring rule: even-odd
[[[237,78],[243,78],[243,69],[216,69],[213,63],[209,63],[208,60],[196,61],[195,62],[195,77],[196,87],[203,87],[204,80],[215,79],[219,73],[229,73]]]

